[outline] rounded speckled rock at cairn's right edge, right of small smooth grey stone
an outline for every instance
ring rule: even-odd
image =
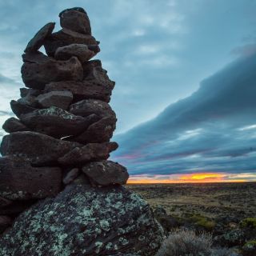
[[[97,99],[85,99],[70,106],[70,113],[85,117],[90,114],[97,114],[101,118],[112,117],[116,115],[110,105]]]

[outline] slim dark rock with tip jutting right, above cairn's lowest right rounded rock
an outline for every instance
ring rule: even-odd
[[[109,158],[110,152],[118,148],[116,142],[89,143],[86,146],[76,147],[65,154],[58,162],[62,165],[81,164],[96,160],[105,160]]]

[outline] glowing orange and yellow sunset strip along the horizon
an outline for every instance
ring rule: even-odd
[[[128,184],[141,183],[206,183],[206,182],[255,182],[256,174],[170,174],[170,175],[131,175]]]

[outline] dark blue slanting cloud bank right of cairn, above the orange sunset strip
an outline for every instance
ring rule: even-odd
[[[131,174],[256,170],[256,54],[201,82],[190,97],[115,140]],[[134,113],[135,114],[135,113]]]

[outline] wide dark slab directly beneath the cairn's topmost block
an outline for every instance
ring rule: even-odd
[[[62,46],[69,46],[73,43],[84,44],[86,46],[97,46],[98,42],[90,34],[81,34],[72,30],[62,29],[46,38],[44,46],[46,53],[54,57],[56,50]],[[99,47],[95,47],[95,54],[99,52]]]

